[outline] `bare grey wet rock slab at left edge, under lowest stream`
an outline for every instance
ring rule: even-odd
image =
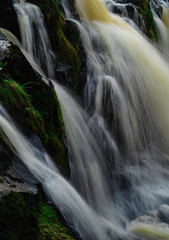
[[[37,193],[38,182],[9,146],[0,141],[0,188],[6,192],[21,191]],[[8,190],[8,191],[7,191]],[[5,194],[3,192],[5,191]]]

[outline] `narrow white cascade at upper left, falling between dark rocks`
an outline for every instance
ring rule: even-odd
[[[17,11],[24,49],[48,77],[54,78],[54,55],[39,7],[19,0],[15,1],[14,6]]]

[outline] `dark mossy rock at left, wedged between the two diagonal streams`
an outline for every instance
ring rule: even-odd
[[[13,46],[0,72],[0,100],[25,134],[36,134],[62,173],[69,176],[65,129],[57,95]]]

